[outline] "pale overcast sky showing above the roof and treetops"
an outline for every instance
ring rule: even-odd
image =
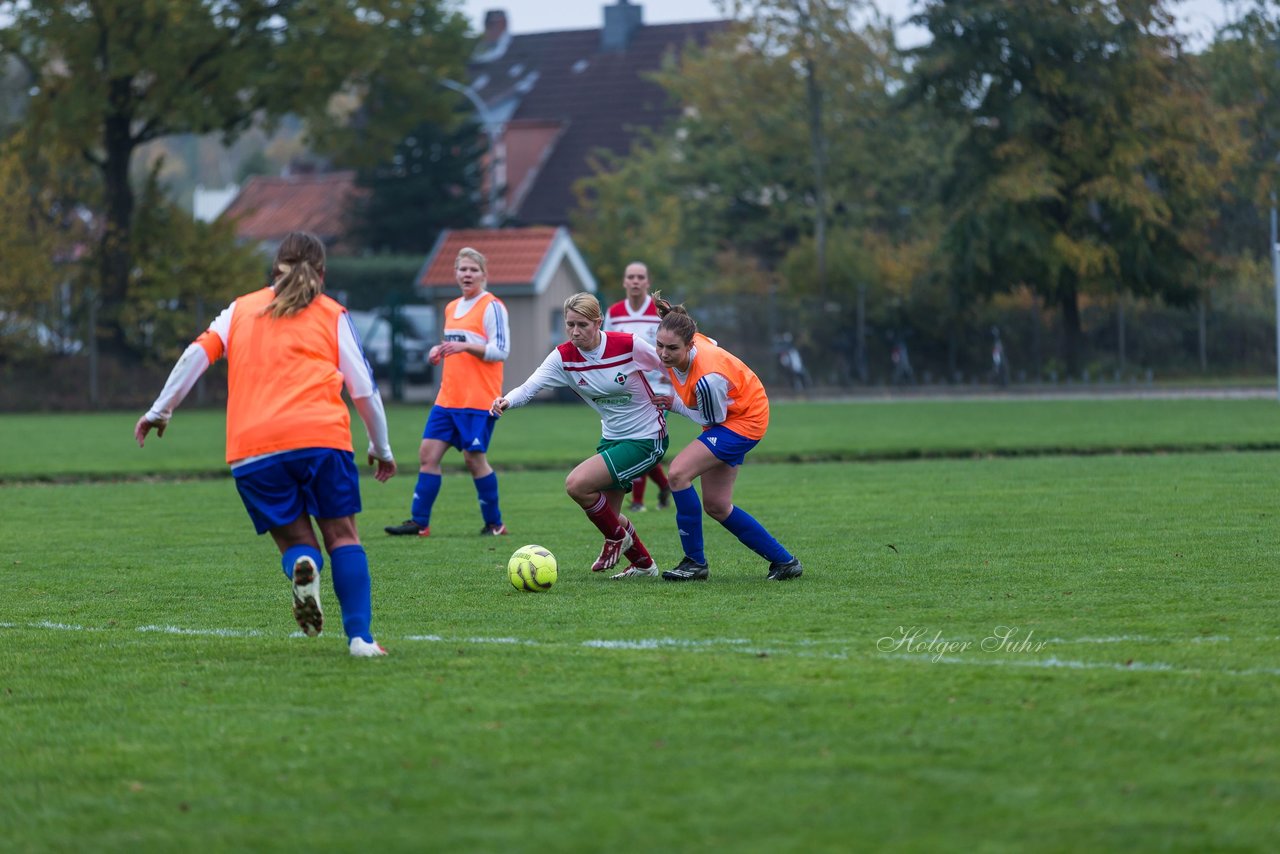
[[[635,0],[634,0],[635,1]],[[1217,24],[1228,19],[1231,0],[1184,0],[1175,4],[1178,17],[1188,33],[1196,37],[1197,47],[1207,40]],[[603,0],[463,0],[462,10],[475,28],[484,27],[484,13],[502,9],[513,33],[547,32],[550,29],[591,29],[602,26],[602,9],[611,3]],[[680,20],[714,20],[723,13],[716,0],[639,0],[644,8],[644,22],[650,24]],[[881,12],[897,22],[906,20],[918,5],[914,0],[877,0]],[[902,44],[911,45],[919,35],[902,32]]]

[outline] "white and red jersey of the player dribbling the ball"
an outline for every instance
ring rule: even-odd
[[[625,332],[603,332],[600,344],[589,352],[566,341],[504,397],[516,407],[543,389],[571,388],[599,412],[602,438],[657,439],[667,434],[667,421],[653,405],[654,392],[645,378],[655,370],[664,369],[648,341]]]

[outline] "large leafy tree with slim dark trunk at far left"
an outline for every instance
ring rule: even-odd
[[[0,18],[0,50],[35,81],[29,120],[97,170],[102,325],[122,351],[138,146],[188,132],[232,140],[297,113],[326,151],[379,159],[447,117],[452,99],[434,79],[468,50],[466,19],[443,0],[3,0]]]

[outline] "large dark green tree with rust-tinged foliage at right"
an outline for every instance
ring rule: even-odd
[[[963,129],[942,201],[948,284],[1029,286],[1080,366],[1082,293],[1196,298],[1235,147],[1162,0],[927,0],[913,95]]]

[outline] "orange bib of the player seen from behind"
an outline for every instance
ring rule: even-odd
[[[289,318],[262,315],[275,296],[262,288],[236,300],[227,335],[227,462],[278,451],[352,451],[342,399],[338,324],[346,311],[324,294]],[[223,356],[223,339],[196,339]]]

